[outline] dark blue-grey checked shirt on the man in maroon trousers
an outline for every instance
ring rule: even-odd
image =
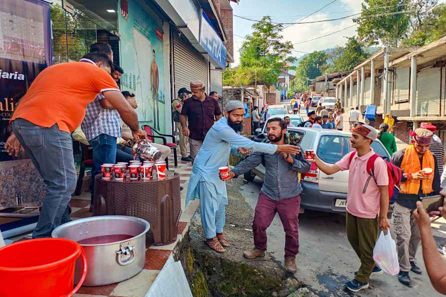
[[[265,179],[261,191],[272,200],[283,200],[300,194],[302,187],[297,173],[306,173],[310,169],[310,164],[303,158],[302,153],[295,155],[293,159],[294,162],[290,164],[278,152],[273,154],[253,152],[231,171],[238,176],[263,163]]]

